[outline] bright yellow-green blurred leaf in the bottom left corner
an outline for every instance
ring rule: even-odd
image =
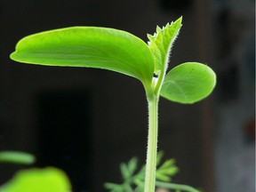
[[[70,192],[66,174],[59,169],[28,169],[17,172],[14,178],[0,188],[0,192]]]

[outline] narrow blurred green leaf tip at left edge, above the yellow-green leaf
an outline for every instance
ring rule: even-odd
[[[35,156],[20,151],[1,151],[0,163],[33,164]]]

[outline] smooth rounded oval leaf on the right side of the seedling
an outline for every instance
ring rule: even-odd
[[[161,96],[180,103],[203,100],[213,90],[216,76],[212,68],[197,62],[180,64],[165,76]]]

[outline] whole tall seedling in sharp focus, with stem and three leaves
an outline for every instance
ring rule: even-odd
[[[181,20],[168,23],[163,28],[157,27],[153,36],[148,35],[148,44],[137,36],[114,28],[72,27],[27,36],[20,40],[11,55],[12,60],[28,64],[102,68],[140,80],[148,100],[145,192],[153,192],[156,188],[160,96],[191,104],[207,97],[216,84],[212,69],[198,62],[182,63],[167,72]]]

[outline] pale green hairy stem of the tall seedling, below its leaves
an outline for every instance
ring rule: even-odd
[[[159,96],[148,97],[148,151],[144,192],[155,192]]]

